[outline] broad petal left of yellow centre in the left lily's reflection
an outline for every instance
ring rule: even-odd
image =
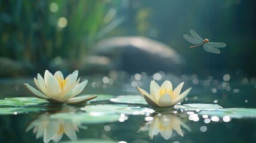
[[[48,123],[44,132],[44,142],[50,142],[53,136],[58,132],[60,128],[60,123],[57,121],[51,121]]]

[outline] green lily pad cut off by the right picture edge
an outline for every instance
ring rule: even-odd
[[[224,117],[229,116],[231,118],[256,118],[255,108],[220,108],[213,111],[201,111],[198,114],[207,114],[208,116]]]

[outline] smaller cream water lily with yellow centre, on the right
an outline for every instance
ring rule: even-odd
[[[184,82],[181,82],[177,88],[172,91],[172,83],[165,80],[161,86],[158,85],[154,80],[150,83],[150,94],[143,89],[136,86],[138,92],[145,98],[147,104],[153,107],[171,107],[172,105],[181,102],[187,94],[189,94],[191,88],[180,94],[181,88]]]

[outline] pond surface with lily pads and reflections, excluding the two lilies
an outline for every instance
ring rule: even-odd
[[[23,83],[2,79],[1,142],[256,142],[255,78],[175,76],[160,71],[83,77],[82,94],[99,93],[77,105],[55,105],[31,97]],[[150,80],[192,91],[180,105],[154,108],[135,85],[149,91]],[[90,82],[93,81],[93,82]],[[13,96],[12,96],[13,95]],[[4,96],[2,96],[4,97]],[[56,133],[57,132],[57,133]]]

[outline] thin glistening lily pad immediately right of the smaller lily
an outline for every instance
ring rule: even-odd
[[[201,110],[216,110],[222,108],[218,104],[183,104],[175,105],[175,109],[184,111],[201,111]]]

